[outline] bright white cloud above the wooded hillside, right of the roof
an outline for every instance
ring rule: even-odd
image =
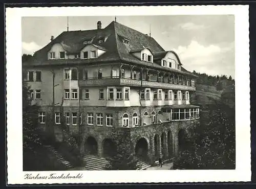
[[[233,43],[202,45],[192,40],[187,46],[178,46],[178,54],[184,68],[210,75],[231,75],[234,78]]]

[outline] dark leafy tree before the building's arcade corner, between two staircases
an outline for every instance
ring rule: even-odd
[[[118,132],[117,130],[112,130],[112,135],[114,141],[117,143],[117,152],[113,157],[108,158],[109,164],[106,165],[106,170],[137,170],[138,158],[132,152],[129,133],[128,132]]]

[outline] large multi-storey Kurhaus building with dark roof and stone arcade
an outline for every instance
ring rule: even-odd
[[[110,156],[113,131],[153,162],[178,153],[188,127],[199,125],[189,103],[196,77],[153,37],[113,21],[107,27],[62,32],[23,63],[38,124],[81,137],[81,153]]]

